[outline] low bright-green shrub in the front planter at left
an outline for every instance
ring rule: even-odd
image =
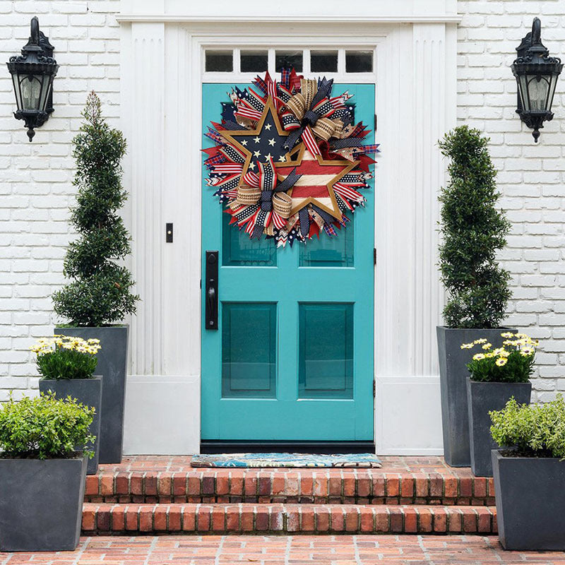
[[[76,398],[58,400],[49,393],[37,398],[10,398],[0,408],[0,449],[6,458],[68,458],[75,446],[84,446],[89,457],[94,452],[88,443],[95,440],[88,427],[94,408]]]

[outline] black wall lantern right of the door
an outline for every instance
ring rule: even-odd
[[[549,57],[542,44],[542,23],[534,18],[532,31],[516,47],[518,59],[511,69],[518,83],[518,114],[529,128],[535,142],[544,121],[553,119],[552,102],[557,77],[563,69],[561,59]]]

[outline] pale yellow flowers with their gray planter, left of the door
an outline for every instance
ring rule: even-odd
[[[51,391],[57,398],[71,396],[94,408],[89,432],[96,438],[100,436],[102,376],[94,374],[100,340],[55,335],[53,339],[40,339],[30,349],[37,355],[37,371],[42,376],[40,391]],[[98,470],[98,446],[98,440],[88,445],[93,457],[88,460],[87,475],[95,475]]]

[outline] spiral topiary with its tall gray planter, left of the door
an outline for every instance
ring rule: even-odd
[[[124,401],[129,328],[126,314],[136,311],[129,270],[119,265],[130,253],[130,237],[118,214],[127,199],[121,186],[126,141],[102,118],[100,99],[88,95],[85,123],[73,139],[77,206],[71,224],[79,237],[64,261],[71,282],[53,295],[55,312],[69,321],[57,333],[100,339],[97,370],[104,377],[100,411],[100,463],[119,463],[124,438]]]

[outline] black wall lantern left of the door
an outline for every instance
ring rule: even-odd
[[[18,111],[13,115],[23,119],[30,141],[34,128],[42,126],[53,112],[53,78],[59,65],[53,59],[53,46],[40,32],[36,17],[31,20],[31,35],[21,55],[10,57],[8,71],[12,75]]]

